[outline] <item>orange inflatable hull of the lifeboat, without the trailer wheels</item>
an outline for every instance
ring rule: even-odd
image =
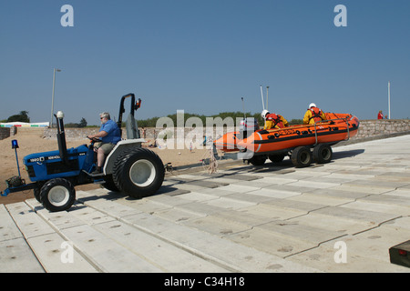
[[[214,145],[223,152],[251,152],[272,155],[288,152],[298,146],[334,145],[357,134],[359,119],[354,115],[326,114],[327,120],[315,125],[292,125],[281,129],[256,130],[249,136],[231,132]]]

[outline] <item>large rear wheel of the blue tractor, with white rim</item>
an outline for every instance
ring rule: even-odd
[[[118,156],[112,176],[121,192],[142,198],[158,191],[164,181],[165,168],[153,151],[137,148]]]

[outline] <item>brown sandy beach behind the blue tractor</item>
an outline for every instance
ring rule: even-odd
[[[15,150],[12,148],[12,140],[16,139],[19,148],[17,149],[18,163],[20,168],[20,174],[23,179],[26,180],[26,184],[31,183],[27,176],[25,166],[23,164],[23,158],[29,154],[46,152],[57,150],[56,139],[46,139],[43,137],[41,131],[24,131],[22,133],[17,133],[14,136],[10,136],[3,140],[0,140],[0,148],[2,148],[0,164],[0,191],[5,191],[6,184],[5,180],[12,177],[18,176],[17,165],[15,161]],[[89,140],[87,138],[83,140],[68,140],[67,148],[77,147],[84,144],[88,144]],[[151,144],[152,141],[148,140],[147,145]],[[156,152],[162,159],[164,165],[170,163],[171,166],[186,166],[201,163],[204,158],[210,157],[210,150],[203,149],[159,149],[150,148]],[[90,184],[85,186],[76,186],[77,190],[87,190],[99,187],[97,184]],[[28,198],[32,198],[33,190],[28,190],[25,192],[12,193],[9,196],[1,196],[0,204],[9,204],[19,201],[24,201]]]

